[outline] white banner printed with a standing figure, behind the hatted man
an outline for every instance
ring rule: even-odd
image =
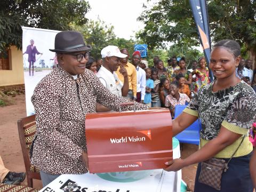
[[[41,79],[52,71],[55,53],[55,35],[59,31],[22,27],[23,69],[26,91],[27,116],[35,113],[31,96]]]

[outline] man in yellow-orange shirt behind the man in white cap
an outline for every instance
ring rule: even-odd
[[[127,57],[121,59],[121,65],[125,67],[127,70],[128,78],[129,78],[129,91],[127,94],[126,99],[132,99],[135,101],[137,99],[137,75],[136,75],[136,68],[132,65],[132,63],[128,62],[129,52],[126,48],[120,50],[121,53],[126,54]],[[121,82],[124,83],[124,76],[119,73],[120,67],[118,67],[116,74]]]

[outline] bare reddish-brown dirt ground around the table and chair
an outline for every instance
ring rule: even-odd
[[[26,117],[25,95],[14,97],[15,105],[0,107],[0,155],[7,169],[15,172],[25,172],[23,162],[17,121]],[[197,150],[196,145],[183,144],[181,158],[186,158]],[[189,189],[194,189],[196,175],[196,164],[182,169],[182,179],[187,183]],[[27,179],[21,183],[27,185]],[[34,180],[34,188],[41,189],[42,182]],[[193,191],[193,190],[191,190]]]

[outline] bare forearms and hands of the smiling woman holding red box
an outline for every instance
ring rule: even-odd
[[[186,119],[186,121],[182,121],[182,119]],[[175,136],[186,129],[186,127],[193,123],[196,119],[196,116],[182,113],[173,121],[173,135]],[[205,146],[185,159],[174,159],[173,161],[166,162],[166,165],[169,166],[165,170],[178,171],[185,166],[210,159],[214,155],[218,154],[222,149],[234,143],[239,137],[241,137],[241,134],[231,132],[225,127],[221,126],[217,138],[207,142]]]

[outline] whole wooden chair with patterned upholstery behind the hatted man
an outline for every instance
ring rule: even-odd
[[[18,131],[23,159],[26,167],[28,186],[33,188],[33,179],[41,180],[39,170],[30,164],[29,149],[36,133],[35,115],[18,120]]]

